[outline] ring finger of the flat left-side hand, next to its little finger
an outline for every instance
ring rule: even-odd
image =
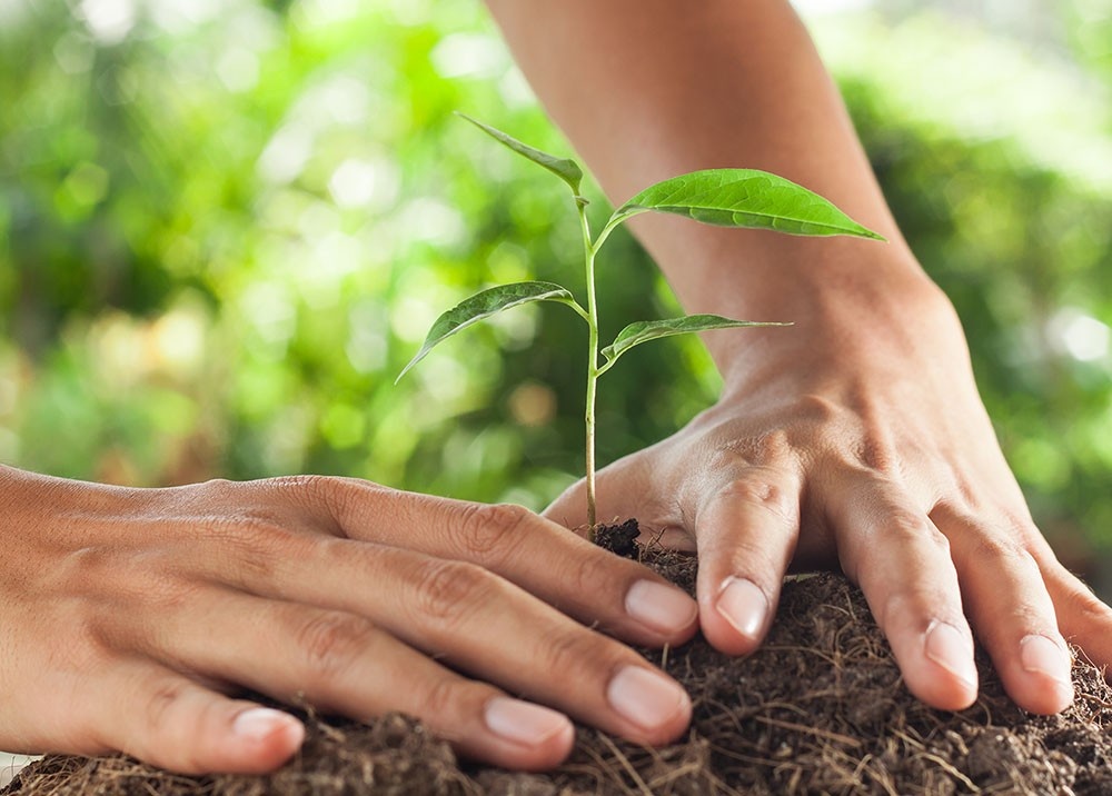
[[[190,628],[175,634],[175,653],[191,667],[356,719],[405,713],[460,754],[496,766],[540,770],[570,752],[566,716],[467,679],[363,617],[242,595],[216,603],[225,608],[210,613],[208,627],[229,643]],[[256,621],[245,628],[236,616]]]

